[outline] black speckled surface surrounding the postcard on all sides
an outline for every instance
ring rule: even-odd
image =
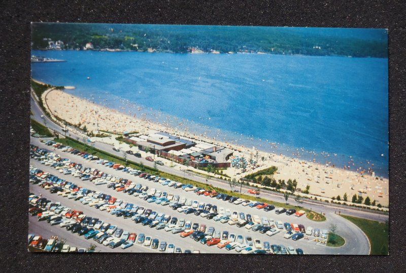
[[[0,270],[395,271],[404,258],[404,1],[2,1]],[[389,29],[389,256],[35,254],[26,250],[30,22],[362,27]],[[362,79],[360,79],[362,80]]]

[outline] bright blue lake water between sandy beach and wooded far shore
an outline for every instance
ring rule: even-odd
[[[160,116],[187,119],[193,122],[191,130],[206,131],[221,140],[238,140],[286,155],[298,152],[296,157],[330,161],[339,167],[353,160],[351,169],[374,164],[377,174],[388,176],[388,59],[93,51],[32,54],[66,60],[33,63],[32,77],[75,86],[69,91],[72,94],[93,96],[96,102],[107,99],[115,108],[122,103],[113,97],[126,99],[159,111]]]

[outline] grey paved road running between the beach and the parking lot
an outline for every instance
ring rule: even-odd
[[[62,128],[55,124],[53,121],[47,118],[47,116],[43,113],[42,109],[40,106],[36,103],[36,101],[32,98],[31,96],[31,110],[33,112],[32,118],[35,119],[36,121],[44,124],[44,120],[46,121],[45,124],[47,127],[51,128],[52,130],[58,131],[60,134],[64,134],[61,130]],[[41,118],[41,115],[44,115],[44,118]],[[73,128],[70,128],[70,132],[68,134],[71,134],[72,138],[79,139],[79,141],[82,141],[82,137],[78,136],[73,133]],[[33,141],[33,138],[31,138],[31,142]],[[111,154],[115,154],[118,157],[122,157],[122,152],[117,152],[113,150],[113,146],[106,144],[106,143],[100,143],[100,142],[95,142],[92,145],[94,145],[95,148],[100,149],[100,150],[105,150]],[[154,167],[154,164],[152,162],[146,161],[144,159],[140,159],[137,157],[134,157],[133,155],[127,155],[127,159],[131,160],[133,162],[137,163],[143,163],[146,166],[149,167]],[[181,168],[186,168],[184,166],[181,166]],[[224,189],[229,189],[229,186],[227,183],[219,182],[218,180],[213,180],[213,179],[206,179],[204,177],[198,176],[198,175],[193,175],[189,173],[185,173],[183,169],[179,169],[178,167],[172,168],[170,166],[159,166],[158,169],[163,172],[171,173],[174,175],[178,175],[181,177],[187,177],[191,180],[202,182],[202,183],[207,183],[211,184],[216,187],[224,188]],[[247,193],[247,188],[243,186],[243,193]],[[281,202],[284,203],[285,200],[282,196],[279,196],[278,194],[272,193],[272,192],[261,192],[261,197],[271,200],[271,201],[276,201],[276,202]],[[295,201],[293,198],[290,198],[288,200],[291,204],[295,204]],[[381,221],[384,222],[386,220],[389,220],[389,215],[384,215],[384,214],[379,214],[379,213],[374,213],[374,212],[369,212],[369,211],[361,211],[361,210],[356,210],[353,208],[346,208],[346,207],[337,207],[332,204],[320,204],[320,203],[315,203],[312,202],[311,200],[303,200],[302,206],[307,209],[311,209],[317,212],[322,212],[322,213],[335,213],[335,212],[341,212],[343,214],[355,216],[355,217],[361,217],[365,219],[370,219],[370,220],[375,220],[375,221]]]

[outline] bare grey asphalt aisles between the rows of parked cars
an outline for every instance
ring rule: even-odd
[[[41,145],[41,148],[46,148],[50,149],[49,146],[43,144]],[[117,176],[117,179],[123,178],[123,179],[128,179],[133,181],[134,183],[139,183],[144,185],[147,185],[149,187],[149,190],[152,188],[155,188],[157,191],[161,192],[166,192],[168,195],[172,194],[173,196],[178,195],[180,198],[184,197],[187,200],[191,201],[197,201],[198,203],[205,203],[208,204],[210,203],[211,205],[216,205],[218,210],[220,208],[223,209],[223,211],[229,211],[230,213],[232,212],[237,212],[241,213],[243,212],[245,215],[250,214],[252,216],[258,215],[260,218],[266,217],[268,220],[274,220],[276,221],[281,221],[283,223],[298,223],[302,224],[305,227],[308,227],[311,225],[313,228],[319,228],[320,230],[322,229],[328,229],[328,225],[330,224],[330,221],[325,221],[325,222],[314,222],[311,221],[310,219],[306,218],[306,216],[302,217],[295,217],[294,215],[286,215],[286,214],[276,214],[275,210],[273,211],[264,211],[262,209],[257,209],[256,207],[249,207],[249,206],[242,206],[242,205],[235,205],[232,203],[229,203],[227,201],[222,201],[221,199],[216,199],[216,198],[210,198],[204,195],[197,195],[194,191],[185,191],[182,188],[174,188],[174,187],[169,187],[162,185],[162,183],[159,182],[153,182],[149,181],[147,179],[140,178],[139,176],[134,176],[130,175],[129,173],[122,172],[122,171],[117,171],[112,168],[106,167],[101,164],[97,164],[94,161],[88,161],[83,159],[82,157],[69,153],[69,152],[63,152],[60,149],[56,149],[55,152],[60,154],[61,158],[64,159],[69,159],[72,162],[82,164],[83,167],[89,167],[92,169],[97,169],[99,171],[105,172],[107,174],[111,174],[113,176]],[[98,192],[103,192],[106,194],[110,194],[113,197],[116,197],[117,199],[121,199],[123,202],[127,201],[128,203],[131,204],[137,204],[140,207],[145,207],[146,209],[151,209],[152,211],[160,212],[163,214],[171,215],[172,217],[177,217],[178,220],[181,218],[184,218],[186,221],[191,221],[191,223],[198,223],[200,224],[206,224],[207,227],[214,227],[216,231],[220,231],[223,233],[223,231],[228,231],[228,233],[234,233],[234,235],[238,236],[241,235],[243,238],[246,238],[247,236],[250,236],[252,240],[260,240],[261,243],[263,242],[269,242],[271,245],[284,245],[286,247],[292,246],[294,249],[300,248],[303,250],[304,253],[306,254],[331,254],[331,253],[344,253],[343,248],[330,248],[330,247],[325,247],[324,244],[321,244],[320,242],[315,242],[314,238],[303,238],[298,241],[293,241],[291,239],[285,239],[283,238],[283,235],[286,233],[286,230],[281,230],[279,233],[276,235],[273,235],[272,237],[269,237],[265,233],[260,233],[258,231],[252,231],[251,229],[247,229],[245,227],[238,227],[236,225],[229,225],[227,223],[221,223],[220,221],[214,221],[213,219],[207,219],[198,215],[192,214],[184,214],[182,212],[178,212],[177,210],[173,210],[169,206],[161,206],[159,204],[156,204],[155,202],[148,203],[146,200],[140,199],[136,196],[129,196],[127,193],[123,191],[117,191],[114,188],[108,188],[108,184],[102,184],[102,185],[95,185],[92,181],[85,180],[83,181],[79,177],[74,177],[71,174],[62,174],[55,168],[51,167],[50,165],[45,165],[41,164],[40,161],[38,160],[33,160],[31,159],[30,161],[32,167],[41,169],[43,172],[48,172],[49,174],[53,174],[58,176],[61,179],[64,179],[66,181],[73,182],[76,184],[78,187],[86,188],[92,191],[98,191]],[[179,237],[179,234],[173,234],[172,232],[167,232],[164,230],[156,230],[155,228],[150,228],[148,225],[143,226],[141,224],[135,224],[131,219],[124,219],[122,217],[116,217],[115,215],[112,215],[110,213],[107,213],[106,211],[100,211],[99,209],[95,209],[94,207],[89,207],[87,205],[83,205],[82,203],[78,201],[74,201],[74,199],[67,199],[61,196],[58,196],[57,194],[52,194],[49,192],[49,190],[46,190],[38,185],[30,185],[30,190],[33,193],[36,194],[42,194],[42,197],[45,197],[49,200],[55,201],[55,202],[60,202],[64,206],[70,207],[72,209],[77,209],[83,211],[84,214],[91,216],[91,217],[97,217],[99,219],[104,219],[105,222],[109,222],[112,224],[116,224],[123,228],[124,230],[128,230],[131,232],[136,232],[137,234],[139,233],[145,233],[146,236],[151,236],[153,238],[157,238],[160,242],[165,241],[167,244],[174,243],[176,247],[180,247],[182,250],[199,250],[201,253],[235,253],[234,251],[225,251],[224,249],[220,249],[217,247],[208,247],[206,245],[200,244],[199,242],[195,242],[194,240],[191,240],[189,238],[184,238],[181,239]],[[147,192],[149,191],[147,190]],[[331,218],[334,218],[332,216]],[[329,219],[331,219],[329,217]],[[338,219],[337,219],[338,221]],[[63,228],[61,228],[63,229]],[[342,230],[343,237],[346,237],[345,235],[348,234],[346,232],[348,230]],[[67,239],[67,238],[66,238]],[[181,239],[181,240],[180,240]],[[307,240],[310,239],[310,240]],[[84,240],[84,239],[83,239]],[[69,240],[68,240],[69,241]],[[354,240],[351,240],[352,242]],[[361,241],[361,240],[360,240]],[[346,244],[347,245],[347,244]],[[255,249],[255,248],[254,248]],[[99,248],[100,251],[104,251],[102,248]],[[354,249],[353,249],[354,250]],[[134,246],[127,248],[125,250],[121,250],[119,248],[116,248],[115,251],[132,251],[132,252],[145,252],[145,247],[143,246],[138,246],[137,244],[134,244]],[[356,253],[354,253],[356,254]]]

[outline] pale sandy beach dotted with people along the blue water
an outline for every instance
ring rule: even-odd
[[[43,100],[46,102],[46,107],[48,107],[51,114],[71,124],[80,125],[81,128],[86,126],[88,131],[117,133],[137,131],[142,134],[148,134],[151,131],[164,131],[189,139],[196,139],[193,132],[181,131],[164,124],[139,119],[61,90],[46,91],[43,94]],[[237,147],[238,151],[234,152],[234,155],[245,156],[246,158],[249,158],[249,154],[253,152],[252,149],[244,146],[235,146],[235,144],[231,146],[229,143],[202,135],[199,135],[198,139],[228,148]],[[278,172],[274,175],[276,180],[296,179],[298,188],[304,190],[309,185],[310,193],[316,196],[327,198],[340,196],[343,199],[344,194],[347,193],[348,201],[351,201],[353,194],[362,192],[364,199],[368,196],[371,201],[376,200],[377,203],[383,206],[389,204],[389,180],[387,178],[378,179],[374,175],[361,175],[355,171],[292,159],[282,154],[262,151],[259,151],[259,154],[260,158],[264,157],[265,160],[260,161],[260,166],[254,170],[250,169],[248,173],[270,166],[277,166]],[[238,174],[239,172],[240,170],[228,168],[226,174],[236,178],[248,174]]]

